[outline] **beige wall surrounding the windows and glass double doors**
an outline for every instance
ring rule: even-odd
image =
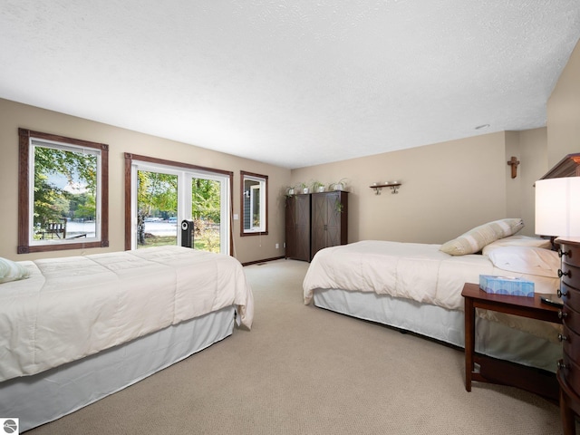
[[[109,238],[110,247],[86,251],[16,255],[18,128],[43,131],[75,139],[109,144]],[[234,213],[240,214],[240,170],[268,176],[267,236],[239,237],[239,220],[234,221],[235,256],[242,263],[284,256],[284,202],[282,192],[290,179],[290,170],[255,160],[240,159],[228,154],[204,150],[172,140],[112,127],[99,122],[75,118],[63,113],[45,111],[32,106],[0,99],[0,256],[14,260],[42,256],[72,256],[120,251],[124,248],[124,153],[146,155],[166,160],[185,161],[213,169],[234,172]],[[275,248],[275,244],[279,248]]]

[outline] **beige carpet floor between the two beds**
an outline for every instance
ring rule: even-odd
[[[514,388],[465,391],[463,353],[304,306],[307,264],[247,266],[251,332],[28,435],[561,433],[558,407]]]

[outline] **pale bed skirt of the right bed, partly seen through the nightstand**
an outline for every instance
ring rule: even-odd
[[[390,295],[340,289],[317,289],[314,291],[314,305],[465,347],[465,315],[462,311]],[[556,372],[556,362],[562,358],[562,343],[477,317],[476,352]]]

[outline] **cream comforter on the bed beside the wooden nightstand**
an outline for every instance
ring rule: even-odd
[[[463,310],[465,283],[479,275],[522,276],[536,293],[556,293],[557,275],[522,274],[500,269],[488,256],[449,256],[440,245],[365,240],[318,251],[304,278],[304,303],[317,288],[340,288],[392,295],[450,310]]]

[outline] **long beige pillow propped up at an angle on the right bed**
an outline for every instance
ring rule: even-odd
[[[451,256],[475,254],[486,245],[498,240],[498,238],[516,234],[523,227],[524,221],[520,218],[494,220],[470,229],[467,233],[453,240],[449,240],[449,242],[441,245],[440,250]]]

